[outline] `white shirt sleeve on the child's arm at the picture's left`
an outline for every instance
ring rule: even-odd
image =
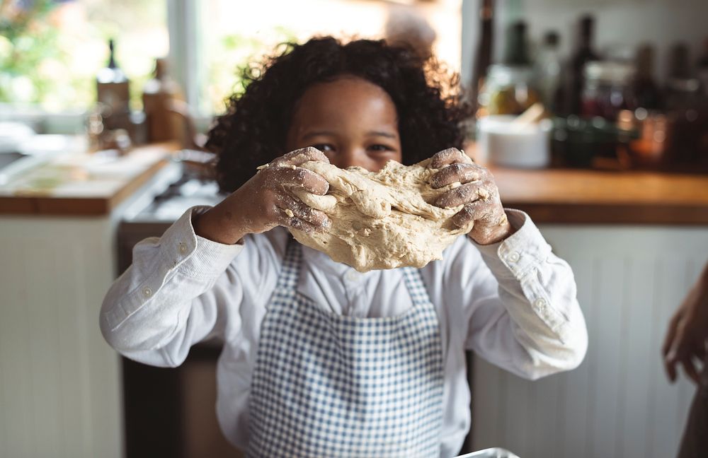
[[[179,365],[190,346],[210,334],[238,332],[241,303],[258,302],[249,297],[258,284],[250,281],[254,288],[244,288],[242,276],[249,269],[236,271],[234,266],[234,259],[246,254],[245,246],[222,245],[195,234],[193,214],[205,209],[190,209],[162,237],[139,242],[132,265],[105,295],[101,331],[124,356],[152,365]]]

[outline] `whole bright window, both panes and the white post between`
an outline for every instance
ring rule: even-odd
[[[462,0],[0,1],[0,103],[86,110],[113,38],[134,109],[154,59],[169,54],[193,112],[210,117],[239,88],[239,66],[313,35],[380,38],[399,3],[416,4],[436,54],[459,71]]]

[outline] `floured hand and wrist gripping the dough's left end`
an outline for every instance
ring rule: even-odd
[[[292,194],[299,188],[324,196],[329,183],[298,165],[309,160],[329,163],[316,148],[303,148],[276,158],[251,180],[193,221],[195,233],[224,244],[239,242],[246,234],[263,233],[277,225],[304,232],[326,230],[331,221]]]

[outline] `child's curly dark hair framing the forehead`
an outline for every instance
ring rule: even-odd
[[[462,147],[460,123],[469,117],[457,76],[434,60],[420,61],[412,49],[383,40],[342,44],[317,37],[302,45],[287,43],[282,54],[241,71],[245,90],[227,100],[206,147],[217,153],[216,177],[222,192],[233,192],[258,165],[287,153],[285,141],[299,98],[314,83],[348,74],[383,88],[399,119],[403,163],[411,165],[434,153]],[[443,95],[447,93],[447,95]]]

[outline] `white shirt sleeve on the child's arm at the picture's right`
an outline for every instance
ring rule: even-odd
[[[459,289],[450,288],[448,299],[463,307],[465,346],[530,379],[576,368],[588,334],[573,271],[553,254],[529,216],[506,212],[513,235],[493,245],[470,240],[472,249],[458,252],[451,265],[451,271],[469,276],[459,281]],[[474,252],[481,259],[463,259],[474,258]],[[464,264],[476,267],[471,271]]]

